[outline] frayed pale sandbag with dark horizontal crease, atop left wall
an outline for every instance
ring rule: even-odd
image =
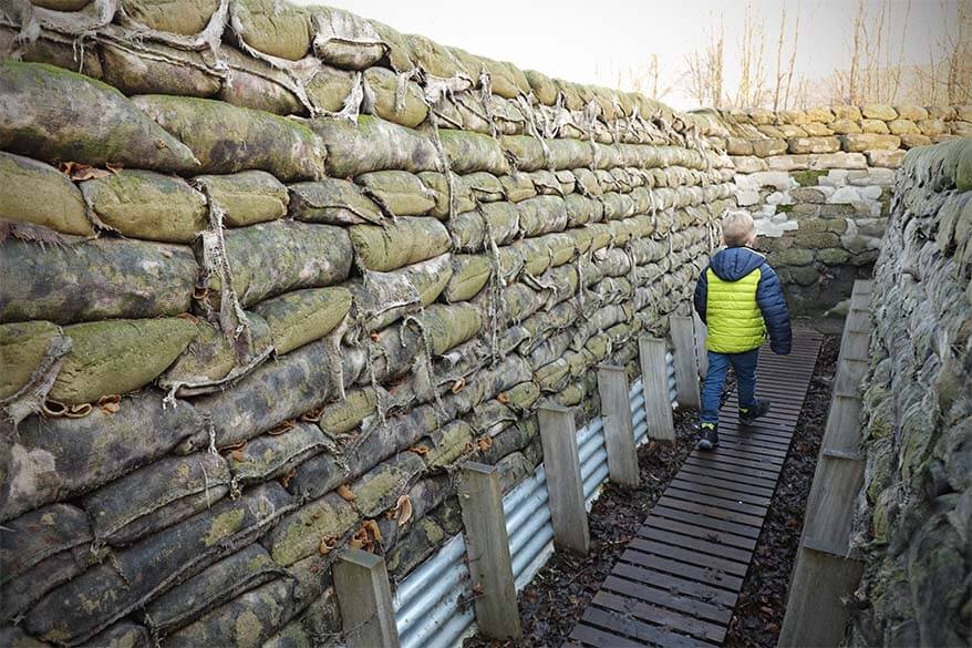
[[[374,27],[350,11],[316,7],[311,21],[314,53],[330,65],[364,70],[389,53],[389,45]]]

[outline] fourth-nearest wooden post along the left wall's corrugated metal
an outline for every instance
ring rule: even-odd
[[[608,473],[616,484],[637,487],[640,484],[638,454],[624,368],[598,364],[598,392],[604,422],[604,445],[608,448]]]

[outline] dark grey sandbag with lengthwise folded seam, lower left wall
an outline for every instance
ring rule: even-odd
[[[229,493],[220,455],[166,456],[86,495],[94,538],[125,546],[209,508]]]

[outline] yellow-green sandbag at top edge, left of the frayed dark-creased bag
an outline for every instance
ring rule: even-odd
[[[256,52],[298,61],[311,47],[308,9],[279,0],[231,0],[229,24],[241,44]]]

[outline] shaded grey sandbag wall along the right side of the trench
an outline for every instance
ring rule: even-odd
[[[968,646],[972,138],[909,151],[875,267],[852,646]]]

